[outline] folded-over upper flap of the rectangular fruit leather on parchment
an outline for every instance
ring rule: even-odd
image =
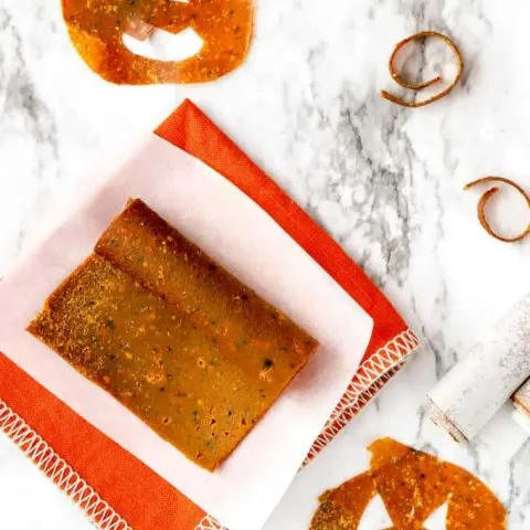
[[[250,377],[269,380],[269,388],[285,388],[316,347],[140,200],[114,220],[96,253],[177,306]]]

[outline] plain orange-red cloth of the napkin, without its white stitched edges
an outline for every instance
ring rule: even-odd
[[[191,102],[184,102],[157,134],[211,166],[266,210],[373,317],[374,332],[364,361],[406,330],[390,303],[340,246]],[[134,530],[191,530],[203,520],[204,512],[189,499],[2,354],[0,399]]]

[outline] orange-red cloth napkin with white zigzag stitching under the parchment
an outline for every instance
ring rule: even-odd
[[[403,365],[417,338],[340,246],[191,102],[156,134],[210,166],[265,210],[373,318],[359,370],[307,464]],[[222,528],[1,353],[0,428],[103,530]]]

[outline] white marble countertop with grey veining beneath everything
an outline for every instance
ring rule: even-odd
[[[190,97],[362,264],[426,344],[343,436],[377,426],[463,464],[506,504],[510,529],[530,528],[530,445],[507,462],[457,447],[425,416],[436,380],[530,290],[530,241],[488,237],[477,193],[462,191],[486,174],[530,188],[530,6],[257,4],[254,45],[234,74],[204,86],[117,87],[77,57],[59,0],[0,3],[0,274],[31,245],[55,198]],[[393,106],[378,95],[392,88],[389,54],[426,29],[460,45],[463,83],[426,108]],[[1,436],[0,498],[1,528],[89,528]],[[269,530],[283,530],[280,520]]]

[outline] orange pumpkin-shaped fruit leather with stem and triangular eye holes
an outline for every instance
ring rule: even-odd
[[[502,505],[465,469],[391,438],[369,451],[370,470],[324,494],[310,530],[358,529],[378,495],[393,526],[373,530],[430,530],[424,524],[445,504],[446,530],[506,529]]]

